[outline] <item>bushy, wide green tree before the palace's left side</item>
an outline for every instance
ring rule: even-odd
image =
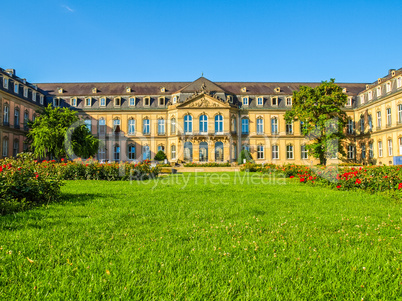
[[[68,129],[79,121],[76,112],[68,108],[53,108],[50,104],[37,112],[39,117],[28,123],[30,131],[27,134],[27,142],[31,145],[33,154],[38,158],[51,155],[58,160],[66,157],[65,137]],[[83,158],[96,154],[99,140],[92,136],[83,122],[70,131],[73,131],[71,145],[68,145],[67,149]]]

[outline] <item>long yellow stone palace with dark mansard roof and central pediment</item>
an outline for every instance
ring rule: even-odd
[[[388,165],[402,156],[401,80],[402,69],[392,69],[375,83],[337,83],[348,95],[344,110],[350,119],[342,160]],[[1,154],[23,149],[26,131],[18,124],[34,118],[35,108],[52,103],[77,110],[103,141],[99,160],[152,160],[163,150],[170,162],[233,162],[246,148],[257,163],[318,163],[305,149],[300,122],[286,123],[284,114],[292,107],[293,91],[319,84],[200,77],[194,82],[32,85],[15,71],[0,69]]]

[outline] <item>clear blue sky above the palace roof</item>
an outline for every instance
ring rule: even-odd
[[[373,82],[402,67],[402,1],[20,0],[0,66],[31,82]]]

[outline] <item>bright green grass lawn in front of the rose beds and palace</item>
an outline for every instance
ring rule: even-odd
[[[0,299],[402,298],[400,203],[218,176],[69,181],[0,217]]]

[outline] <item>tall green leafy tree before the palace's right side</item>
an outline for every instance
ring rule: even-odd
[[[345,155],[342,140],[347,116],[342,108],[346,101],[346,94],[334,79],[315,88],[300,86],[299,91],[293,92],[292,109],[286,112],[285,120],[303,122],[303,135],[311,140],[306,149],[320,159],[320,164],[325,165],[327,157],[338,152]]]

